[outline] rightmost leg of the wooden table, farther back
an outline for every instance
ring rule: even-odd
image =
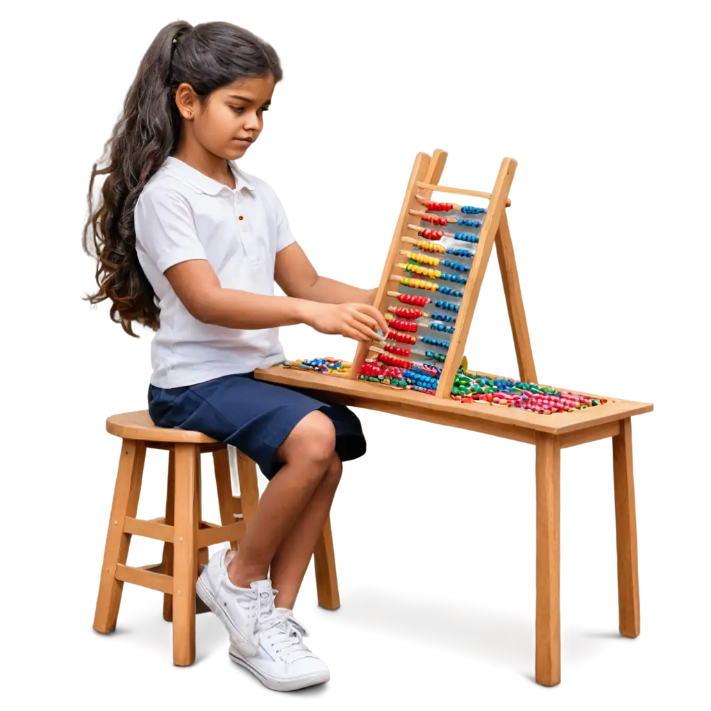
[[[617,626],[620,634],[640,635],[636,579],[638,471],[631,419],[620,423],[612,440],[612,515],[617,557]]]

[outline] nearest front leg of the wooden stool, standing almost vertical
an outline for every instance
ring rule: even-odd
[[[173,533],[173,664],[188,666],[196,655],[198,577],[198,450],[175,446],[175,523]]]

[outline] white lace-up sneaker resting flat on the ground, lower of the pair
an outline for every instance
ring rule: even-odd
[[[271,589],[260,591],[257,653],[243,653],[230,638],[230,659],[272,691],[296,691],[331,682],[328,662],[319,659],[304,643],[306,626],[291,610],[274,609],[274,595]]]

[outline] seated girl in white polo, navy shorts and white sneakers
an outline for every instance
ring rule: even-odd
[[[358,341],[387,324],[367,294],[314,272],[276,188],[240,166],[281,76],[274,50],[229,24],[161,33],[102,171],[93,230],[95,300],[154,331],[151,419],[234,445],[269,479],[239,550],[214,551],[197,592],[225,624],[232,661],[295,690],[330,679],[291,609],[341,461],[364,439],[345,408],[253,373],[285,360],[287,324]]]

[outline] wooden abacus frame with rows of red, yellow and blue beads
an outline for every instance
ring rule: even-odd
[[[407,355],[421,356],[419,360],[425,367],[428,361],[441,367],[434,393],[439,398],[451,397],[463,361],[466,334],[471,329],[482,265],[493,252],[498,257],[496,261],[503,277],[502,292],[513,330],[518,378],[528,380],[533,377],[515,298],[510,245],[504,229],[516,161],[503,157],[491,185],[482,187],[440,183],[446,160],[447,153],[442,150],[415,155],[374,304],[383,314],[395,316],[401,313],[398,304],[402,303],[430,309],[405,314],[406,318],[414,316],[417,319],[410,321],[416,328],[407,328],[403,333],[395,327],[384,334],[384,340],[410,345],[419,341],[429,346],[424,351],[405,350]],[[457,213],[456,217],[452,216],[454,213]],[[456,231],[450,232],[449,225]],[[433,255],[437,256],[433,258]],[[403,257],[408,261],[404,262]],[[437,294],[444,298],[429,299],[422,294]],[[421,318],[425,321],[419,321]],[[393,325],[405,326],[405,321],[396,320]],[[421,329],[447,333],[451,338],[442,341],[433,336],[415,336],[414,333]],[[369,356],[401,355],[402,350],[388,343],[363,343],[353,357],[348,377],[358,379]]]

